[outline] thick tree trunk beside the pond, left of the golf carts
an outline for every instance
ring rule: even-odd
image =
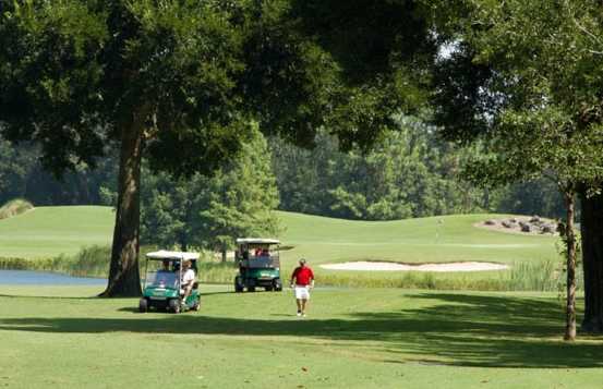
[[[133,116],[121,136],[119,161],[118,204],[111,266],[104,297],[140,296],[138,271],[140,218],[141,218],[141,161],[143,151],[142,116]]]

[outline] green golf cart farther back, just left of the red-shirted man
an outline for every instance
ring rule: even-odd
[[[237,239],[236,260],[239,273],[234,277],[234,291],[245,289],[255,292],[256,288],[266,291],[281,291],[280,242],[276,239],[239,238]]]

